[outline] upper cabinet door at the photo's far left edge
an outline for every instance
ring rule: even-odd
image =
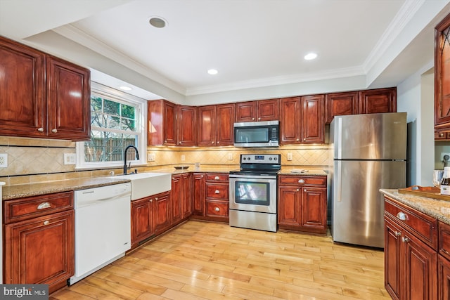
[[[0,135],[45,137],[45,55],[0,37]]]

